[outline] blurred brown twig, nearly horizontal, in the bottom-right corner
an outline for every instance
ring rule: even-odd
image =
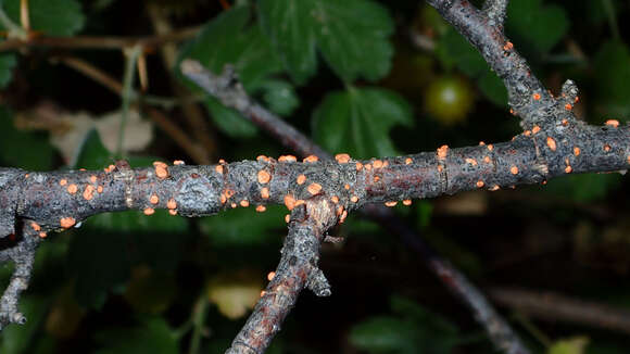
[[[492,288],[499,304],[545,321],[564,321],[630,334],[630,311],[550,291]]]

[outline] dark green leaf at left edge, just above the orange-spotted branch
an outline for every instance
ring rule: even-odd
[[[4,106],[0,106],[0,164],[34,170],[52,168],[55,151],[48,136],[16,129],[11,112]]]

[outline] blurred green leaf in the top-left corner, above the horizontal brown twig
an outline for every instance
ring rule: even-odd
[[[20,23],[20,0],[4,0],[7,15]],[[49,36],[73,36],[83,29],[85,16],[76,0],[29,0],[30,28]]]

